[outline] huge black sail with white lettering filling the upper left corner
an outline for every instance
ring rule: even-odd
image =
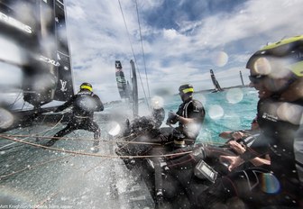
[[[2,0],[0,28],[0,108],[32,118],[74,95],[63,0]]]

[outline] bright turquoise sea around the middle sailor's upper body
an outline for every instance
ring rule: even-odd
[[[249,129],[257,113],[258,95],[254,88],[231,88],[223,92],[195,93],[194,98],[204,105],[207,115],[197,141],[224,142],[220,132]],[[179,95],[164,101],[166,112],[176,112],[181,103]]]

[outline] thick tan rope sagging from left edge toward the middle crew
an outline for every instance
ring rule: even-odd
[[[38,147],[38,148],[42,148],[45,150],[55,150],[55,151],[60,151],[60,152],[65,152],[65,153],[69,153],[69,154],[76,154],[76,155],[83,155],[83,156],[92,156],[92,157],[102,157],[102,158],[110,158],[110,159],[145,159],[145,158],[163,158],[163,157],[170,157],[170,156],[175,156],[175,155],[184,155],[184,154],[188,154],[191,153],[192,151],[188,151],[188,152],[182,152],[182,153],[174,153],[174,154],[165,154],[165,155],[144,155],[144,156],[118,156],[118,155],[100,155],[100,154],[96,154],[96,153],[88,153],[88,152],[82,152],[82,151],[72,151],[72,150],[60,150],[57,148],[50,148],[50,147],[46,147],[40,144],[35,144],[35,143],[31,143],[31,142],[27,142],[27,141],[20,141],[20,140],[16,140],[14,138],[11,137],[4,137],[7,140],[11,140],[11,141],[17,141],[23,144],[27,144],[27,145],[31,145],[33,147]]]

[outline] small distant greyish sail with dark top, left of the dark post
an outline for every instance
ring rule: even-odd
[[[115,79],[117,82],[120,97],[122,99],[130,98],[129,88],[128,88],[129,84],[126,82],[122,64],[121,61],[119,60],[115,61]]]

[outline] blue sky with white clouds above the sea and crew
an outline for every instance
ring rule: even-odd
[[[90,82],[104,102],[119,100],[115,60],[139,96],[249,84],[246,61],[269,42],[303,33],[300,0],[66,0],[75,84]],[[139,75],[138,75],[139,74]],[[145,93],[145,94],[144,94]]]

